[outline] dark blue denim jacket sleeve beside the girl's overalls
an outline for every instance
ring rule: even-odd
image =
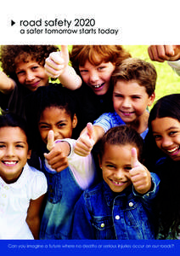
[[[85,193],[82,194],[76,203],[75,213],[72,224],[71,239],[95,239],[93,225],[91,223],[91,215],[87,210]]]

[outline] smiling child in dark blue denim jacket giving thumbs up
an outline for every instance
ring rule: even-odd
[[[151,207],[160,180],[139,162],[143,138],[121,125],[100,146],[104,180],[76,203],[72,239],[155,239]]]

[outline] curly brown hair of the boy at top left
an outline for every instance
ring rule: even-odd
[[[53,51],[58,51],[55,45],[2,45],[0,49],[0,61],[3,72],[11,79],[16,79],[15,69],[20,61],[26,62],[31,56],[31,60],[37,61],[44,66],[46,58]]]

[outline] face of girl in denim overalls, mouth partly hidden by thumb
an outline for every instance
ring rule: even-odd
[[[48,143],[48,131],[53,130],[54,140],[70,138],[76,127],[76,114],[71,119],[65,108],[45,108],[40,117],[38,128],[42,141]]]

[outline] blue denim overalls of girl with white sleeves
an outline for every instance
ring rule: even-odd
[[[69,167],[51,172],[44,161],[42,171],[48,180],[48,201],[42,216],[40,239],[69,239],[73,209],[83,190]]]

